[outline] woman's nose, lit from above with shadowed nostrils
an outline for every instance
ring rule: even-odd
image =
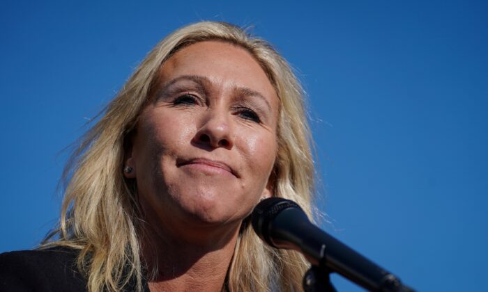
[[[229,113],[208,111],[202,118],[199,130],[195,135],[195,143],[210,146],[211,148],[234,147],[234,138],[229,121]]]

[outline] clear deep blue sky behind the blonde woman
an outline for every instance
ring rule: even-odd
[[[486,291],[486,1],[90,2],[0,4],[0,252],[54,225],[62,150],[151,47],[221,20],[303,81],[322,227],[419,291]]]

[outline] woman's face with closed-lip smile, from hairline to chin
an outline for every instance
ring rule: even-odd
[[[271,195],[278,108],[241,47],[198,42],[171,56],[125,157],[144,212],[175,230],[240,224]]]

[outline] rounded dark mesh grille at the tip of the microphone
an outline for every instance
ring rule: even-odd
[[[262,200],[254,207],[254,210],[252,211],[252,228],[262,240],[268,243],[268,245],[277,248],[270,238],[270,224],[281,211],[288,208],[298,208],[302,210],[296,202],[281,197],[269,197],[268,199]]]

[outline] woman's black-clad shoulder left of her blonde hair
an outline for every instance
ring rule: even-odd
[[[86,291],[76,257],[68,248],[0,254],[0,291]]]

